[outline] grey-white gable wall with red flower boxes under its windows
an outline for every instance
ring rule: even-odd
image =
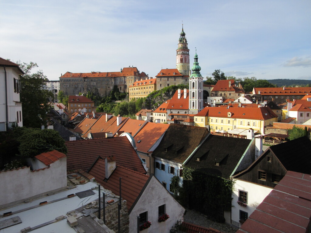
[[[165,213],[169,219],[165,222],[158,222],[158,207],[165,204]],[[185,209],[165,191],[165,188],[155,176],[152,176],[142,196],[130,213],[129,232],[137,232],[137,216],[148,211],[148,221],[151,226],[141,231],[143,233],[169,233],[171,227],[178,221],[183,221]]]

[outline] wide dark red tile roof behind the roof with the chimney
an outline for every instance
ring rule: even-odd
[[[67,141],[65,144],[68,149],[67,170],[87,171],[98,156],[104,158],[114,155],[117,165],[146,173],[142,161],[127,137]]]

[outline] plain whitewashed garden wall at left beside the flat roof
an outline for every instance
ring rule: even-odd
[[[66,187],[66,159],[62,158],[39,171],[30,171],[30,167],[25,167],[0,172],[0,205]]]

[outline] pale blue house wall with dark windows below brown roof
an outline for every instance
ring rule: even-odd
[[[156,178],[160,181],[160,183],[165,182],[166,183],[166,189],[169,191],[169,185],[171,183],[170,179],[173,176],[177,176],[177,170],[180,169],[180,167],[182,166],[181,163],[177,163],[177,162],[173,162],[164,158],[159,158],[159,157],[155,157],[155,163],[159,162],[161,164],[165,165],[165,170],[160,170],[158,168],[154,168],[154,174],[156,176]],[[154,165],[156,166],[156,165]],[[168,172],[168,167],[174,167],[174,174],[171,174]],[[182,177],[179,177],[179,185],[181,186],[183,184],[183,180]],[[172,193],[171,193],[172,194]]]

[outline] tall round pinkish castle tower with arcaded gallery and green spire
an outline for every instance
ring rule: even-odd
[[[189,65],[189,49],[186,39],[186,33],[183,29],[180,33],[178,40],[178,48],[176,49],[176,69],[182,74],[189,76],[190,65]]]

